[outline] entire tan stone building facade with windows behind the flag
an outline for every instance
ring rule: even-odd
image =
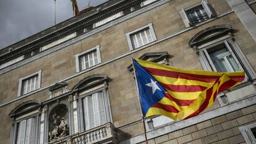
[[[244,70],[184,121],[145,119],[148,143],[256,142],[255,0],[110,0],[0,50],[0,143],[145,143],[132,58]]]

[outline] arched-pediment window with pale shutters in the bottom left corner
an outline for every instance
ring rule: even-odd
[[[38,143],[40,105],[39,101],[26,101],[10,112],[14,119],[12,144]]]

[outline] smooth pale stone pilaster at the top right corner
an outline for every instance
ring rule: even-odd
[[[237,16],[244,24],[252,38],[256,41],[256,15],[245,0],[226,0],[231,9],[236,12]]]

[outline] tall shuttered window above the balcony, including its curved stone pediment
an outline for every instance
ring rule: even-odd
[[[112,121],[107,80],[106,75],[90,75],[73,88],[79,97],[80,132]]]

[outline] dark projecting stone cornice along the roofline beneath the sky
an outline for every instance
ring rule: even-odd
[[[0,62],[18,56],[30,49],[38,48],[43,44],[50,43],[51,41],[56,40],[56,38],[68,35],[79,28],[84,28],[86,25],[92,24],[96,20],[103,19],[109,14],[113,14],[114,12],[124,9],[124,7],[132,6],[132,4],[140,1],[142,0],[112,0],[105,2],[100,6],[93,7],[85,13],[65,20],[58,25],[54,25],[53,27],[2,49],[0,51]]]

